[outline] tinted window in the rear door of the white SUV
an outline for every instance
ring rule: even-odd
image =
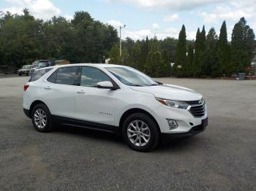
[[[48,78],[48,82],[61,85],[75,85],[78,67],[64,67],[53,72]]]

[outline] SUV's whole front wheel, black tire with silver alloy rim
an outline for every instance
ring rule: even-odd
[[[143,113],[135,113],[127,117],[122,134],[129,147],[139,152],[151,151],[159,143],[156,122]]]

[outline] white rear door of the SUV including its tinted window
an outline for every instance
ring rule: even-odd
[[[78,67],[68,66],[57,69],[44,83],[45,101],[51,114],[75,118],[75,90]]]

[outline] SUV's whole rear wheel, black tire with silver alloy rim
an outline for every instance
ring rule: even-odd
[[[49,132],[52,128],[51,114],[45,104],[37,104],[31,112],[34,128],[39,132]]]

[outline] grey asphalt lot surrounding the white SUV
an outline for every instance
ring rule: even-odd
[[[27,79],[0,78],[0,190],[256,190],[256,81],[158,79],[202,93],[209,125],[140,153],[109,133],[37,132]]]

